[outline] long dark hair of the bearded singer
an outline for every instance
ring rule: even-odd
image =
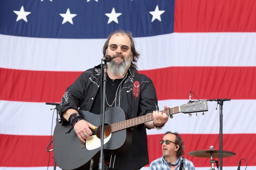
[[[128,32],[128,31],[124,31],[124,30],[116,30],[115,32],[111,33],[104,46],[103,46],[103,55],[105,56],[106,55],[106,49],[108,49],[108,42],[110,40],[110,38],[114,35],[114,34],[117,34],[117,33],[121,33],[121,34],[125,34],[127,35],[129,38],[130,38],[130,41],[131,41],[131,51],[132,51],[132,56],[133,56],[133,59],[132,59],[132,62],[131,62],[131,66],[132,68],[137,72],[138,71],[138,67],[137,67],[137,61],[139,60],[139,53],[136,51],[135,49],[135,43],[134,43],[134,40],[132,38],[132,33],[131,32]]]

